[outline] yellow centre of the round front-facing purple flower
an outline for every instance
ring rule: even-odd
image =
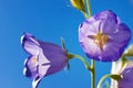
[[[102,51],[108,40],[109,40],[108,35],[103,34],[102,32],[99,32],[96,35],[94,35],[94,43],[96,43]]]

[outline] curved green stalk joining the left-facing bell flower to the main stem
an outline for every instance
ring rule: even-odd
[[[85,66],[85,68],[88,69],[88,70],[91,70],[91,67],[90,67],[90,65],[89,65],[89,63],[85,61],[85,58],[83,58],[82,56],[80,56],[80,55],[73,55],[73,54],[68,54],[68,56],[69,56],[69,58],[71,59],[71,58],[79,58],[81,62],[83,62],[83,64],[84,64],[84,66]]]

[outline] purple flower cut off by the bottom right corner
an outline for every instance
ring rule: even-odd
[[[133,88],[133,67],[122,72],[122,79],[117,81],[117,88]]]

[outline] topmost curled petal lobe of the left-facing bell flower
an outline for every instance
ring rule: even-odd
[[[23,36],[21,36],[21,44],[25,52],[28,52],[29,54],[31,55],[39,54],[39,43],[31,34],[27,33]]]

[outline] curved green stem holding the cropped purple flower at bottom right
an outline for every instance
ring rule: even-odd
[[[108,77],[110,77],[110,78],[112,78],[112,79],[114,79],[114,80],[119,80],[119,79],[122,78],[121,75],[104,75],[104,76],[100,79],[100,81],[99,81],[99,84],[98,84],[98,88],[102,88],[102,82],[103,82]]]

